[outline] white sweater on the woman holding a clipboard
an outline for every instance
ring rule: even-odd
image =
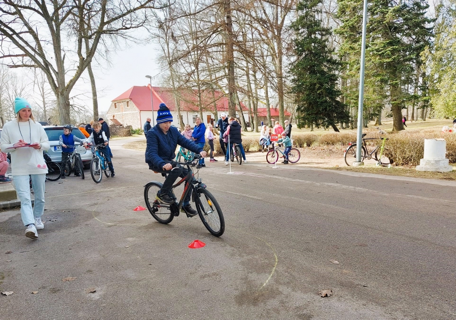
[[[21,128],[21,129],[19,129]],[[8,149],[20,139],[26,143],[41,143],[41,149],[31,147]],[[47,170],[38,168],[44,164],[43,150],[49,149],[49,139],[39,122],[29,119],[26,122],[18,122],[16,119],[7,122],[1,131],[0,149],[11,155],[11,173],[14,175],[39,175],[47,173]],[[35,161],[33,161],[35,159]]]

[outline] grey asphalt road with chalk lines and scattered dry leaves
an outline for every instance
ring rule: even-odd
[[[217,238],[133,211],[163,178],[127,141],[111,142],[115,178],[47,182],[36,241],[0,212],[1,319],[456,319],[454,182],[208,163]]]

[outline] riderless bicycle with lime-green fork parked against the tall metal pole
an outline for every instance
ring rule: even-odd
[[[375,127],[378,129],[378,132],[380,134],[380,138],[364,138],[367,134],[362,134],[361,137],[363,138],[363,142],[361,143],[361,161],[364,161],[366,159],[375,159],[377,163],[375,165],[377,166],[385,166],[388,168],[391,168],[391,163],[389,161],[389,158],[384,155],[383,151],[385,149],[385,141],[388,140],[388,138],[383,138],[381,135],[386,134],[385,131],[382,129]],[[377,144],[373,150],[370,152],[368,151],[368,140],[382,140],[381,145]],[[347,149],[345,149],[343,157],[345,159],[345,163],[347,165],[352,165],[354,161],[356,161],[356,148],[357,143],[356,142],[349,142]]]

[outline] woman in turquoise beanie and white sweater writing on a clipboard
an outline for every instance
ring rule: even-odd
[[[30,103],[26,99],[16,98],[14,112],[16,119],[3,126],[0,149],[11,155],[11,173],[16,193],[21,200],[21,218],[26,226],[26,237],[36,239],[36,230],[44,229],[41,216],[44,213],[47,166],[43,150],[49,149],[49,139],[41,124],[33,118]],[[35,192],[33,209],[29,175]]]

